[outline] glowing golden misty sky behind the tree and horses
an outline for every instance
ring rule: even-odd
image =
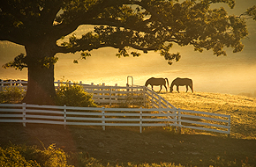
[[[230,14],[239,14],[252,5],[256,0],[239,0],[234,10],[228,5],[222,6]],[[219,5],[220,6],[220,5]],[[168,77],[169,83],[176,77],[190,77],[195,91],[211,91],[238,94],[242,92],[256,92],[256,21],[247,22],[249,38],[243,40],[244,51],[233,54],[226,49],[228,56],[216,57],[212,51],[194,52],[192,47],[173,47],[174,53],[180,52],[180,62],[171,66],[158,53],[150,52],[140,57],[117,58],[117,50],[103,48],[92,52],[86,61],[73,64],[77,54],[56,54],[55,79],[83,81],[86,84],[125,85],[126,76],[133,76],[134,84],[143,85],[147,78]],[[79,27],[79,32],[83,32]],[[25,53],[24,47],[0,41],[0,65],[10,62],[15,56]],[[26,79],[27,70],[0,69],[2,79]],[[184,91],[184,89],[181,89]]]

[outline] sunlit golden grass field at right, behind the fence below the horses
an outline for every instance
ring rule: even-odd
[[[245,96],[194,92],[161,93],[177,108],[231,115],[231,137],[256,139],[256,98]]]

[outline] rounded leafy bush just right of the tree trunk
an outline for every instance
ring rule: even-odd
[[[56,91],[56,104],[67,106],[94,107],[93,95],[78,84],[61,84]]]

